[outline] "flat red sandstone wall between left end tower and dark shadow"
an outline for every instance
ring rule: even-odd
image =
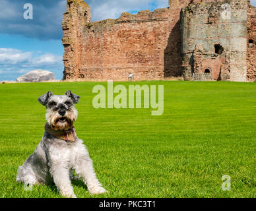
[[[163,78],[164,49],[170,26],[168,9],[85,26],[80,52],[83,78],[127,80]],[[151,16],[151,17],[150,17]],[[89,27],[89,28],[88,28]]]

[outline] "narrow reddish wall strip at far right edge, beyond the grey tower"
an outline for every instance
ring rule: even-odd
[[[248,5],[247,80],[256,80],[256,8]]]

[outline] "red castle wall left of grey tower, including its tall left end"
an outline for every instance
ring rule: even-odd
[[[181,76],[179,13],[190,0],[170,0],[170,8],[123,13],[100,22],[84,16],[89,7],[82,1],[68,3],[63,20],[64,79],[127,80],[131,73],[138,80]]]

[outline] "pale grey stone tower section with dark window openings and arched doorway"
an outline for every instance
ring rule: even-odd
[[[189,77],[191,73],[205,73],[204,71],[208,69],[215,80],[245,81],[246,24],[247,0],[192,3],[182,9],[184,75]],[[200,57],[194,57],[197,45],[201,46],[199,49],[202,48]],[[220,53],[215,52],[216,45],[223,48]],[[197,69],[194,63],[203,63],[205,67]],[[219,77],[216,78],[216,75]]]

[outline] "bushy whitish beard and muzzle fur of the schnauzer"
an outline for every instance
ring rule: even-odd
[[[66,111],[64,116],[59,115],[58,111],[48,111],[46,119],[53,130],[67,131],[73,127],[73,123],[77,120],[77,110]]]

